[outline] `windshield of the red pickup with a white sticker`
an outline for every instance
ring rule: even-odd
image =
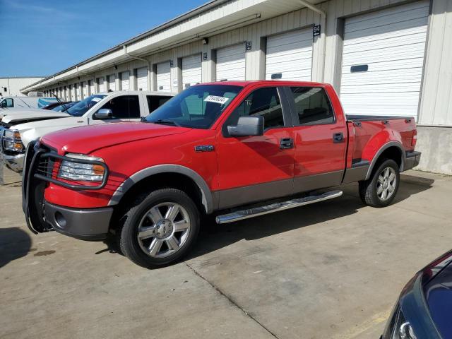
[[[236,85],[196,85],[155,109],[145,121],[208,129],[240,90]]]

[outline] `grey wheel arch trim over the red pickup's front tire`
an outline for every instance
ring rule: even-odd
[[[203,206],[205,213],[213,212],[213,195],[209,189],[206,181],[196,173],[193,169],[182,165],[156,165],[153,167],[148,167],[141,169],[141,171],[132,174],[131,177],[127,178],[118,188],[114,191],[112,198],[108,203],[108,206],[118,205],[123,201],[123,198],[127,196],[127,193],[133,188],[137,188],[137,184],[144,183],[146,181],[151,181],[153,178],[161,179],[162,177],[169,177],[180,179],[188,179],[189,184],[197,189],[200,195],[199,203]]]

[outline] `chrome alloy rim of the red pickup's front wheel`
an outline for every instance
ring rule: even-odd
[[[164,258],[184,246],[190,232],[190,217],[177,203],[159,203],[145,213],[138,226],[138,244],[148,256]]]

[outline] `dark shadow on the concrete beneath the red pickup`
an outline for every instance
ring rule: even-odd
[[[401,176],[402,182],[396,199],[393,203],[400,203],[410,196],[430,189],[434,180],[412,177],[406,174]],[[225,225],[217,225],[214,216],[203,220],[201,232],[194,248],[186,256],[185,260],[191,260],[212,251],[244,240],[261,239],[302,227],[309,227],[352,215],[361,208],[369,208],[362,203],[358,195],[357,184],[347,184],[337,187],[344,192],[340,198],[331,201],[323,201],[312,205],[293,208],[283,212],[262,215],[260,217],[232,222]],[[116,240],[109,238],[105,241],[107,249],[113,254],[121,254]]]

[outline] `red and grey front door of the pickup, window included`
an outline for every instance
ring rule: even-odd
[[[230,114],[218,136],[219,208],[292,194],[295,149],[288,107],[276,87],[258,88]],[[261,115],[263,136],[230,137],[239,117]]]

